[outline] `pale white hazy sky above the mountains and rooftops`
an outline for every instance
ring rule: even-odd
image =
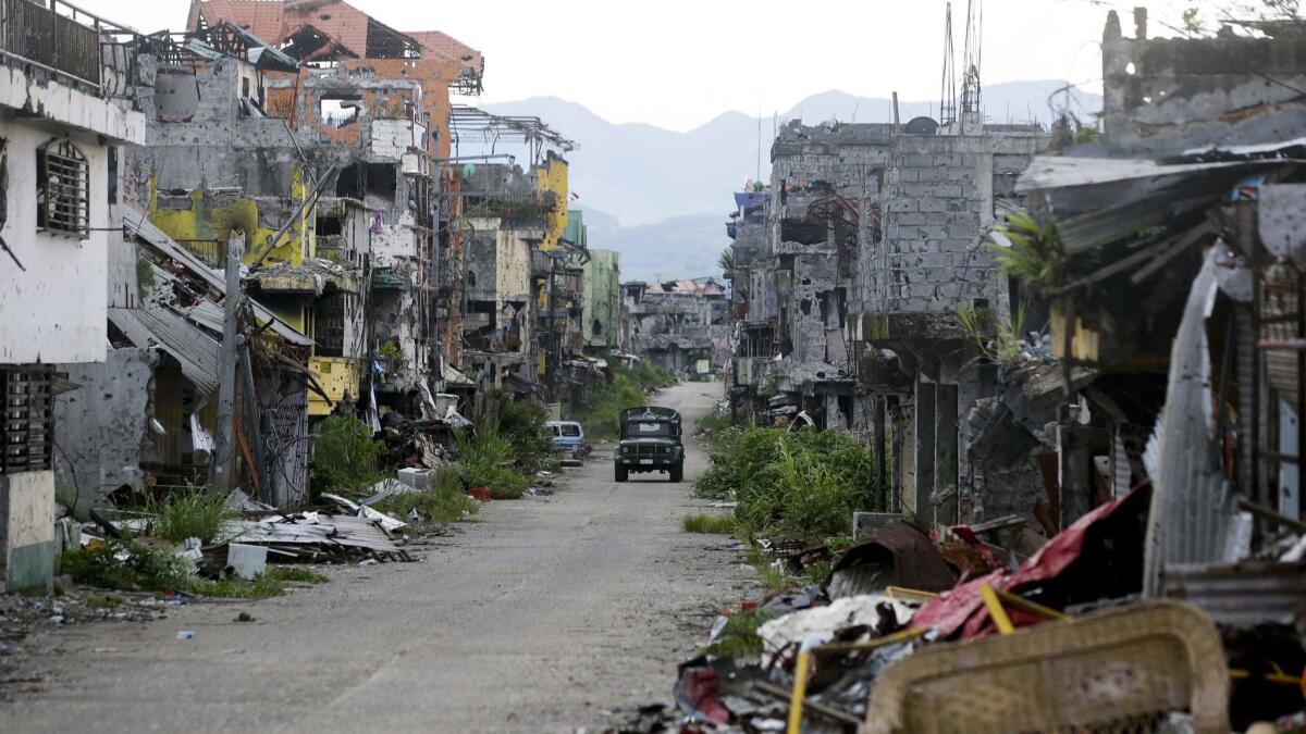
[[[1110,8],[1139,1],[987,0],[986,84],[1064,78],[1100,89],[1098,42]],[[182,30],[189,0],[74,0],[142,31]],[[1187,5],[1155,0],[1151,35]],[[400,30],[443,30],[486,55],[482,102],[552,95],[615,123],[686,131],[721,112],[786,111],[802,98],[840,89],[866,97],[938,99],[944,0],[355,0]],[[961,64],[966,1],[953,3]],[[475,103],[475,102],[471,102]]]

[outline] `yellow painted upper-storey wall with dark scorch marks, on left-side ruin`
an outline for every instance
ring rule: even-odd
[[[244,263],[253,264],[263,249],[272,242],[279,227],[259,226],[259,202],[252,199],[239,199],[226,206],[213,205],[205,196],[204,189],[191,192],[189,209],[159,209],[154,182],[150,184],[150,221],[175,240],[218,240],[226,242],[231,238],[232,229],[242,229],[246,234]],[[308,195],[303,175],[296,166],[290,180],[290,199],[293,206],[298,209],[299,202]],[[265,263],[290,263],[302,265],[304,257],[316,256],[316,243],[310,222],[315,217],[312,210],[304,212],[290,226],[290,230],[277,243],[277,247],[268,255]]]

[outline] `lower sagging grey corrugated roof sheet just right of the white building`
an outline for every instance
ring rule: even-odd
[[[222,347],[199,327],[166,308],[150,306],[110,308],[108,320],[136,346],[157,346],[171,354],[200,393],[209,394],[218,389]]]

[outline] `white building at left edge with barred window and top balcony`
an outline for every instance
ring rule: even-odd
[[[68,9],[5,5],[0,34],[0,589],[48,586],[65,368],[106,363],[110,287],[136,266],[115,232],[119,166],[145,141],[135,34]],[[57,31],[56,31],[57,29]],[[55,35],[60,43],[55,43]],[[61,495],[60,495],[61,496]],[[63,498],[61,498],[63,499]]]

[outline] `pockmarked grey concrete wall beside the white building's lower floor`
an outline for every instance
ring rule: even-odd
[[[80,385],[55,398],[55,490],[61,500],[76,498],[86,508],[121,486],[142,488],[157,366],[154,351],[129,347],[110,350],[102,363],[60,367]]]

